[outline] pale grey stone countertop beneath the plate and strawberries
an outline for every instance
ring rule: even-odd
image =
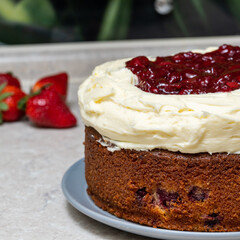
[[[0,70],[19,76],[25,91],[42,76],[69,73],[68,104],[78,126],[37,128],[26,119],[0,126],[0,239],[147,239],[81,214],[62,193],[63,174],[84,157],[78,86],[95,65],[111,59],[223,43],[239,45],[240,37],[1,47]]]

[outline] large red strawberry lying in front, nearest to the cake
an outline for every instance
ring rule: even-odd
[[[43,89],[40,94],[28,99],[26,115],[42,127],[68,128],[77,123],[59,94],[50,88]]]

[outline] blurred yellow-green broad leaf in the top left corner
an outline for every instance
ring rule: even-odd
[[[0,15],[4,20],[50,28],[57,18],[49,0],[0,0]]]

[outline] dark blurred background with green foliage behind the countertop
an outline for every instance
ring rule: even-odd
[[[154,0],[0,0],[0,42],[16,44],[126,39],[129,32],[130,37],[134,37],[133,26],[136,27],[139,22],[145,24],[145,29],[153,29],[154,37],[158,34],[161,37],[162,30],[166,31],[164,37],[168,33],[178,37],[201,36],[202,33],[207,36],[214,32],[211,21],[216,12],[227,16],[228,21],[231,18],[235,29],[240,31],[239,10],[240,0],[173,0],[173,11],[167,16],[154,12]],[[135,14],[137,11],[142,11],[141,15]],[[152,20],[149,27],[145,18],[139,21],[135,17],[138,15],[138,18],[142,18],[145,14],[146,19]],[[156,21],[153,24],[155,28],[151,28],[153,21]],[[215,22],[218,24],[218,15]],[[219,29],[218,26],[216,28]],[[149,37],[144,32],[142,36]]]

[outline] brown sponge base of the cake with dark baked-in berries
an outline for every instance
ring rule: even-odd
[[[99,207],[140,224],[187,231],[240,230],[240,158],[118,150],[86,127],[88,193]]]

